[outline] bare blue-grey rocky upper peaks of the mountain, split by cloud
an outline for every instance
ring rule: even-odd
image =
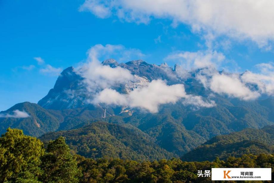
[[[171,67],[148,64],[142,60],[118,64],[115,60],[108,59],[103,61],[102,64],[109,65],[110,67],[119,66],[125,68],[135,76],[135,82],[130,81],[129,83],[119,84],[114,87],[122,93],[126,93],[136,87],[138,82],[149,82],[160,78],[166,80],[168,84],[182,81],[176,78],[175,71],[172,70]],[[66,68],[61,72],[53,89],[51,89],[43,99],[38,101],[38,105],[46,109],[55,110],[82,108],[86,105],[91,105],[88,103],[90,92],[87,90],[86,83],[83,81],[84,78],[79,72],[75,71],[73,67]]]

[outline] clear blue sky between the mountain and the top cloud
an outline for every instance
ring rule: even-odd
[[[147,21],[133,15],[119,15],[117,7],[102,1],[86,3],[111,9],[107,15],[87,7],[81,11],[79,8],[84,2],[0,1],[0,111],[19,102],[38,102],[54,86],[58,77],[56,72],[79,66],[87,58],[88,49],[96,44],[123,45],[125,50],[142,53],[141,56],[130,54],[126,57],[128,60],[121,59],[121,53],[111,53],[100,55],[101,60],[109,56],[123,62],[144,59],[161,64],[166,61],[173,66],[179,61],[165,59],[171,53],[210,50],[225,56],[218,69],[226,68],[231,72],[254,70],[256,64],[273,61],[271,33],[263,32],[261,37],[256,37],[253,32],[244,30],[240,33],[246,38],[241,40],[214,27],[212,40],[208,39],[210,31],[206,23],[203,30],[193,30],[194,24],[189,23],[192,20],[180,18],[179,14],[175,16],[168,10],[161,15],[157,11],[144,10],[138,4],[118,2],[121,4],[117,7],[126,12],[124,15],[136,11],[149,17]],[[232,27],[231,30],[243,29]],[[261,38],[268,43],[258,43]],[[209,40],[211,46],[206,44]],[[38,64],[34,57],[43,59],[44,64]],[[56,70],[47,72],[47,68]]]

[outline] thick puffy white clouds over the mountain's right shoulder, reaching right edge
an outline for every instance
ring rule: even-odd
[[[206,89],[241,100],[254,100],[261,95],[274,95],[274,70],[272,63],[257,65],[259,72],[246,71],[242,74],[217,72],[213,68],[200,70],[196,78]]]

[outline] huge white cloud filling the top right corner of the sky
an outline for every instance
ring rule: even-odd
[[[168,18],[173,25],[186,23],[193,31],[249,38],[259,46],[274,40],[273,9],[274,1],[269,0],[85,0],[80,7],[99,18],[116,15],[128,22]]]

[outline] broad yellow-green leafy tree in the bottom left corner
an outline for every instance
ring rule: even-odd
[[[8,128],[0,138],[0,182],[38,182],[44,152],[39,139]]]

